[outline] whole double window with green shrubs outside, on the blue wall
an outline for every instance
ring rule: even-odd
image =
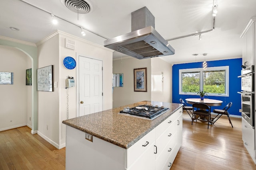
[[[179,94],[197,95],[205,91],[209,96],[228,96],[228,66],[179,70]]]

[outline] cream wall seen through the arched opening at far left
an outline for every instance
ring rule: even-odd
[[[27,90],[31,88],[26,86],[26,69],[31,68],[31,60],[12,47],[0,46],[0,54],[0,71],[14,72],[14,84],[0,84],[0,131],[31,125],[31,121],[27,122],[27,117],[32,116],[31,104],[27,104],[32,97]]]

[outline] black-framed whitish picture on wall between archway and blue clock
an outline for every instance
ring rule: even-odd
[[[37,91],[53,92],[53,65],[37,69]]]

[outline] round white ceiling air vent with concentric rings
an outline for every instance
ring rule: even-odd
[[[93,9],[93,5],[89,0],[62,0],[62,3],[69,10],[78,14],[87,14]]]

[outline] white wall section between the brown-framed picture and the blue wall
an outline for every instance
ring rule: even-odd
[[[163,82],[162,82],[163,72]],[[151,100],[158,102],[172,102],[172,65],[157,58],[151,59]]]

